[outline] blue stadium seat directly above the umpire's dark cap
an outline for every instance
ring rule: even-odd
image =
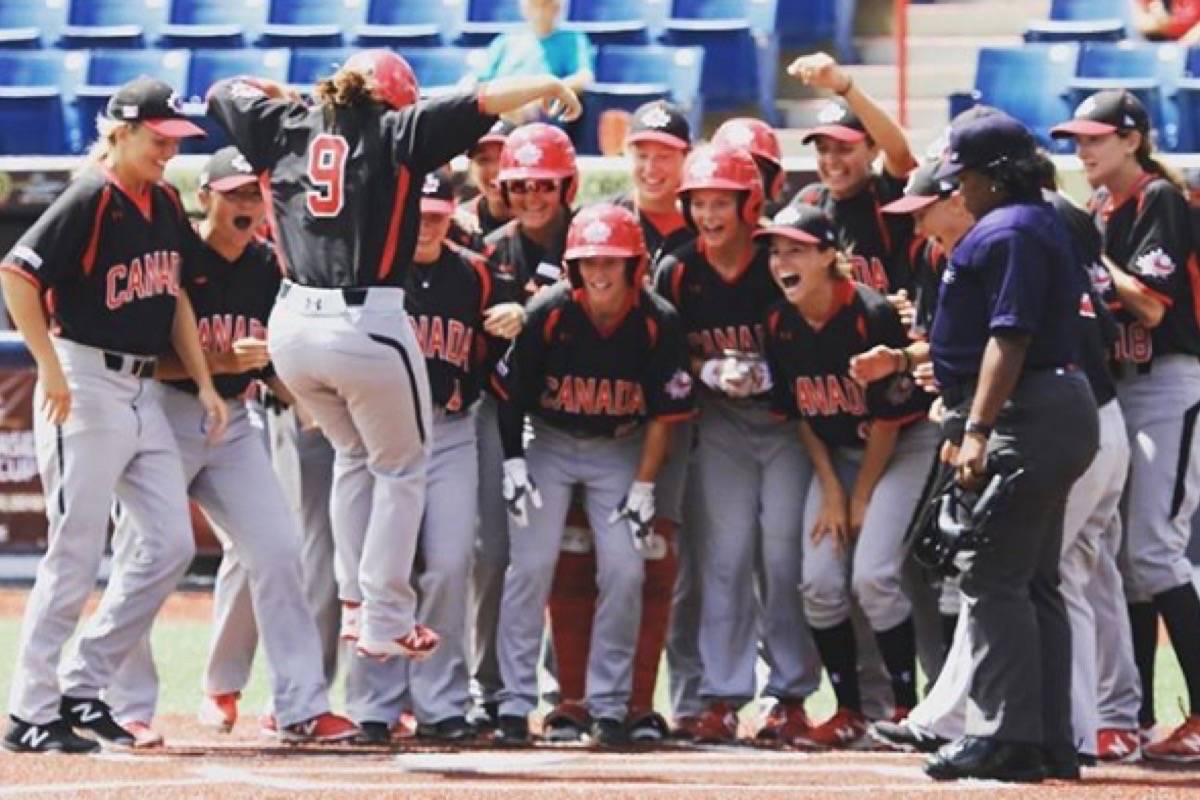
[[[1074,110],[1066,94],[1078,64],[1079,44],[1074,42],[982,48],[974,91],[970,97],[952,96],[950,113],[972,103],[995,106],[1030,126],[1043,146],[1068,150],[1069,143],[1050,139],[1050,128]]]

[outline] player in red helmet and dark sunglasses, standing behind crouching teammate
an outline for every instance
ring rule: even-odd
[[[512,219],[485,239],[485,251],[496,281],[497,318],[521,317],[521,303],[539,287],[562,277],[563,247],[578,190],[575,148],[559,128],[541,122],[523,125],[509,134],[500,150],[497,174],[500,197]],[[504,571],[509,564],[508,515],[500,494],[502,464],[496,399],[490,392],[480,402],[479,425],[479,534],[472,573],[472,693],[473,721],[482,728],[496,722],[500,691],[496,652],[496,626]]]

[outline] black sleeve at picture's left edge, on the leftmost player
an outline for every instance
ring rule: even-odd
[[[107,187],[84,176],[50,204],[4,258],[4,265],[32,278],[42,289],[73,279],[84,270],[83,258]]]

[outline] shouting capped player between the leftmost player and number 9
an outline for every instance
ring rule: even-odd
[[[200,347],[228,405],[224,439],[216,446],[205,441],[204,409],[175,359],[160,360],[156,377],[166,383],[156,384],[154,391],[179,445],[188,495],[222,531],[224,549],[236,553],[246,573],[271,666],[280,738],[342,741],[358,729],[329,712],[320,639],[301,583],[300,537],[270,469],[262,433],[251,425],[242,402],[250,384],[260,377],[276,393],[289,393],[269,372],[265,341],[266,319],[280,288],[278,263],[270,246],[256,240],[264,216],[263,194],[253,168],[235,148],[223,148],[206,162],[199,201],[205,216],[198,237],[190,237],[184,251],[185,287],[196,311]],[[127,546],[136,537],[137,521],[122,510],[115,533],[118,563],[137,559]],[[226,604],[217,603],[218,615]],[[205,693],[217,694],[222,688],[205,686]],[[150,642],[144,637],[121,663],[106,699],[119,720],[131,720],[140,730],[154,718],[157,690]]]

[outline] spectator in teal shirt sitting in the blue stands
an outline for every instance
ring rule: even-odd
[[[521,0],[521,13],[528,28],[492,40],[487,64],[476,76],[479,80],[550,73],[582,95],[592,83],[592,44],[587,34],[558,28],[562,7],[562,0]],[[529,122],[539,119],[539,112],[534,103],[505,119]]]

